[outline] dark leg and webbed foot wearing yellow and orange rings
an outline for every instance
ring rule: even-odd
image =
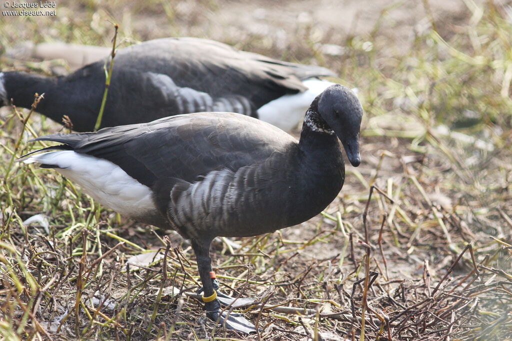
[[[197,266],[199,270],[199,277],[203,284],[203,302],[206,316],[212,321],[217,321],[224,324],[228,329],[238,330],[244,333],[255,332],[254,326],[245,319],[242,314],[230,313],[227,315],[225,312],[221,315],[221,304],[217,298],[217,289],[219,283],[215,278],[211,278],[211,259],[210,259],[210,243],[211,239],[192,239],[191,244],[194,252],[196,253]],[[227,316],[227,317],[226,317]]]

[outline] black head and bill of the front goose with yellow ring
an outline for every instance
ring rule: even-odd
[[[342,141],[352,166],[359,166],[362,106],[357,96],[346,86],[331,85],[319,95],[318,113]]]

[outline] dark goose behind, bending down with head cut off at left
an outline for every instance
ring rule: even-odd
[[[105,55],[106,57],[106,55]],[[10,100],[76,131],[92,131],[105,88],[103,60],[69,76],[0,73],[0,106]],[[162,38],[119,49],[101,127],[150,122],[199,111],[233,111],[286,131],[302,119],[311,101],[333,84],[324,67],[279,61],[199,38]]]

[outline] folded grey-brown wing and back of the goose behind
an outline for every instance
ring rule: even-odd
[[[283,62],[200,38],[162,38],[136,44],[119,50],[115,65],[124,63],[139,71],[168,75],[177,86],[212,98],[245,97],[255,109],[306,90],[303,79],[335,76],[325,67]]]

